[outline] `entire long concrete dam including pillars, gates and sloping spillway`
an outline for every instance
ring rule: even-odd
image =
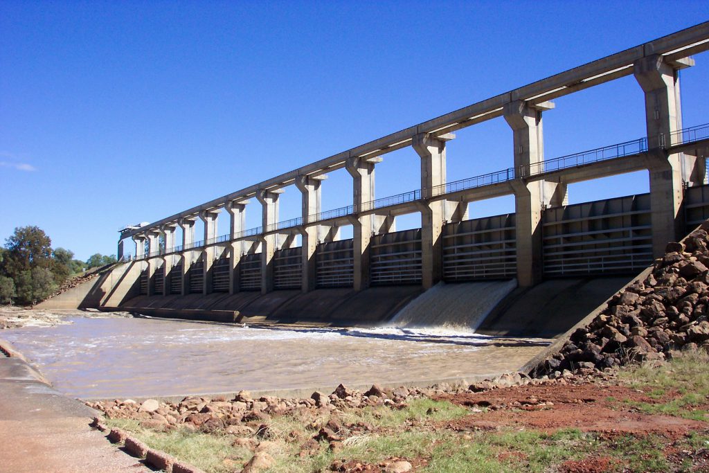
[[[126,226],[120,265],[44,307],[558,335],[709,216],[709,124],[683,123],[681,100],[691,98],[679,89],[679,72],[691,74],[695,64],[691,55],[708,49],[709,22]],[[644,99],[637,113],[646,133],[545,156],[542,121],[554,113],[552,100],[623,77],[635,79]],[[505,167],[450,179],[447,143],[491,120],[510,128],[510,153],[498,157]],[[420,186],[375,196],[377,165],[403,148],[420,158]],[[323,181],[337,169],[352,177],[352,204],[323,211]],[[572,184],[630,172],[647,172],[647,194],[569,204]],[[287,187],[300,192],[301,214],[282,220]],[[469,204],[501,196],[513,197],[513,212],[469,216]],[[246,228],[252,210],[261,225]],[[421,227],[396,231],[398,216],[411,213]],[[220,216],[229,219],[225,235],[217,233]],[[340,238],[345,226],[352,238]],[[133,255],[124,251],[130,240]],[[518,287],[503,282],[511,280]]]

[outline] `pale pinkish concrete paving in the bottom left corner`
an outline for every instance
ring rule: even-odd
[[[0,458],[2,471],[148,472],[89,427],[97,414],[52,389],[13,347],[0,340]]]

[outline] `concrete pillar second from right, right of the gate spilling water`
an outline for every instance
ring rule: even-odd
[[[554,183],[527,182],[525,176],[541,172],[544,162],[542,110],[554,105],[540,104],[532,108],[523,101],[505,105],[504,116],[513,131],[515,179],[515,222],[517,246],[517,282],[534,286],[542,280],[542,205],[545,194]],[[557,199],[558,200],[558,199]]]

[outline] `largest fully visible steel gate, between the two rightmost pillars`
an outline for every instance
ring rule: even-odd
[[[547,208],[542,235],[546,277],[639,272],[652,264],[650,194]]]

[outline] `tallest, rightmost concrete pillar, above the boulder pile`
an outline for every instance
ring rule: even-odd
[[[683,226],[684,157],[668,155],[665,148],[680,138],[681,129],[679,75],[659,55],[643,57],[635,62],[635,79],[645,96],[645,123],[649,155],[650,207],[652,209],[652,249],[655,257],[664,254],[669,241],[674,241]],[[703,179],[703,176],[702,176]]]

